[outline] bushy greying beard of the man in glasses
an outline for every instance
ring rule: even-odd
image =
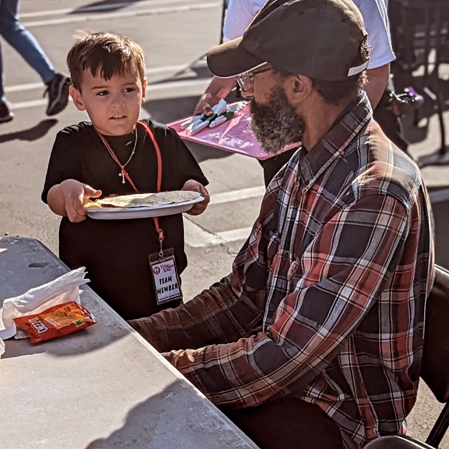
[[[251,129],[266,153],[278,154],[287,145],[301,140],[304,120],[296,113],[281,86],[272,89],[267,105],[258,105],[251,98],[250,110]]]

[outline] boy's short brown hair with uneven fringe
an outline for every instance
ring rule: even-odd
[[[83,36],[67,55],[72,85],[81,92],[84,70],[92,76],[99,74],[109,80],[126,72],[137,73],[143,85],[145,57],[133,40],[111,33],[93,33]]]

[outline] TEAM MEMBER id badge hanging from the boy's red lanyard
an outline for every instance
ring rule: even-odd
[[[149,259],[158,305],[175,299],[182,299],[173,248],[162,251],[162,254],[159,252],[150,254]]]

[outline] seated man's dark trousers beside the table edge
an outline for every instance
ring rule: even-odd
[[[226,416],[260,449],[342,449],[338,426],[317,406],[284,398]]]

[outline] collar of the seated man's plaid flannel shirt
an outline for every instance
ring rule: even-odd
[[[327,134],[310,151],[299,158],[298,178],[310,185],[352,142],[371,120],[373,110],[365,92],[352,101]]]

